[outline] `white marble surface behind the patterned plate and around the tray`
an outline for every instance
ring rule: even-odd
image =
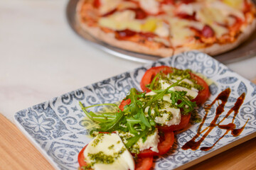
[[[80,39],[65,18],[68,1],[0,1],[0,113],[14,113],[142,65]],[[228,64],[256,77],[256,57]]]

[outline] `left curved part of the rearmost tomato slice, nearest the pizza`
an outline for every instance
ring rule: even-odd
[[[144,76],[142,77],[142,81],[140,83],[142,91],[146,91],[147,93],[151,91],[148,88],[146,88],[146,85],[150,84],[151,81],[156,76],[156,74],[158,74],[159,72],[163,72],[164,74],[169,74],[173,72],[173,69],[168,66],[159,66],[159,67],[152,67],[151,69],[146,70]]]

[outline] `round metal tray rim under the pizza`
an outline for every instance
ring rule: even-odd
[[[83,38],[87,42],[90,42],[95,47],[108,52],[117,57],[122,57],[127,60],[132,60],[136,62],[151,62],[155,60],[159,60],[161,57],[154,55],[144,55],[137,52],[131,52],[128,50],[122,50],[118,47],[113,47],[112,45],[108,45],[105,42],[97,40],[92,37],[92,35],[88,34],[86,31],[82,30],[80,24],[77,21],[75,8],[78,4],[79,0],[70,0],[68,1],[68,5],[66,7],[66,17],[68,19],[68,24],[75,31],[76,34]],[[254,57],[256,55],[256,31],[250,36],[248,40],[243,42],[239,47],[236,47],[229,52],[225,52],[221,55],[213,56],[219,62],[224,64],[229,64],[232,62],[238,62],[240,60],[245,60],[249,57]]]

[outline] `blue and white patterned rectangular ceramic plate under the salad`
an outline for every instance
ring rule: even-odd
[[[181,149],[188,140],[196,135],[200,123],[191,125],[188,130],[176,135],[174,147],[168,154],[154,160],[156,163],[154,169],[184,169],[256,136],[255,84],[232,72],[212,57],[196,51],[185,52],[146,64],[144,67],[139,67],[131,72],[119,74],[31,108],[26,108],[14,115],[16,125],[53,164],[55,169],[78,169],[78,153],[82,147],[90,142],[91,138],[87,135],[90,132],[89,127],[92,125],[90,120],[85,120],[85,114],[79,106],[79,101],[85,106],[121,101],[132,87],[140,89],[139,82],[146,69],[160,65],[191,69],[193,72],[208,77],[211,96],[206,104],[210,104],[221,91],[230,88],[231,93],[225,104],[225,111],[220,115],[220,118],[223,118],[235,105],[237,98],[245,93],[245,100],[239,108],[234,123],[237,128],[242,128],[246,122],[247,124],[238,137],[233,137],[228,132],[213,149],[207,152],[201,151],[201,149],[195,151]],[[218,102],[210,109],[205,125],[209,125],[213,120],[217,106]],[[100,108],[95,108],[95,110],[98,111]],[[198,113],[203,118],[206,111],[201,107],[198,109]],[[231,113],[226,120],[231,121],[233,114]],[[203,126],[203,128],[206,127]],[[226,130],[213,128],[202,142],[201,147],[210,147],[225,132]]]

